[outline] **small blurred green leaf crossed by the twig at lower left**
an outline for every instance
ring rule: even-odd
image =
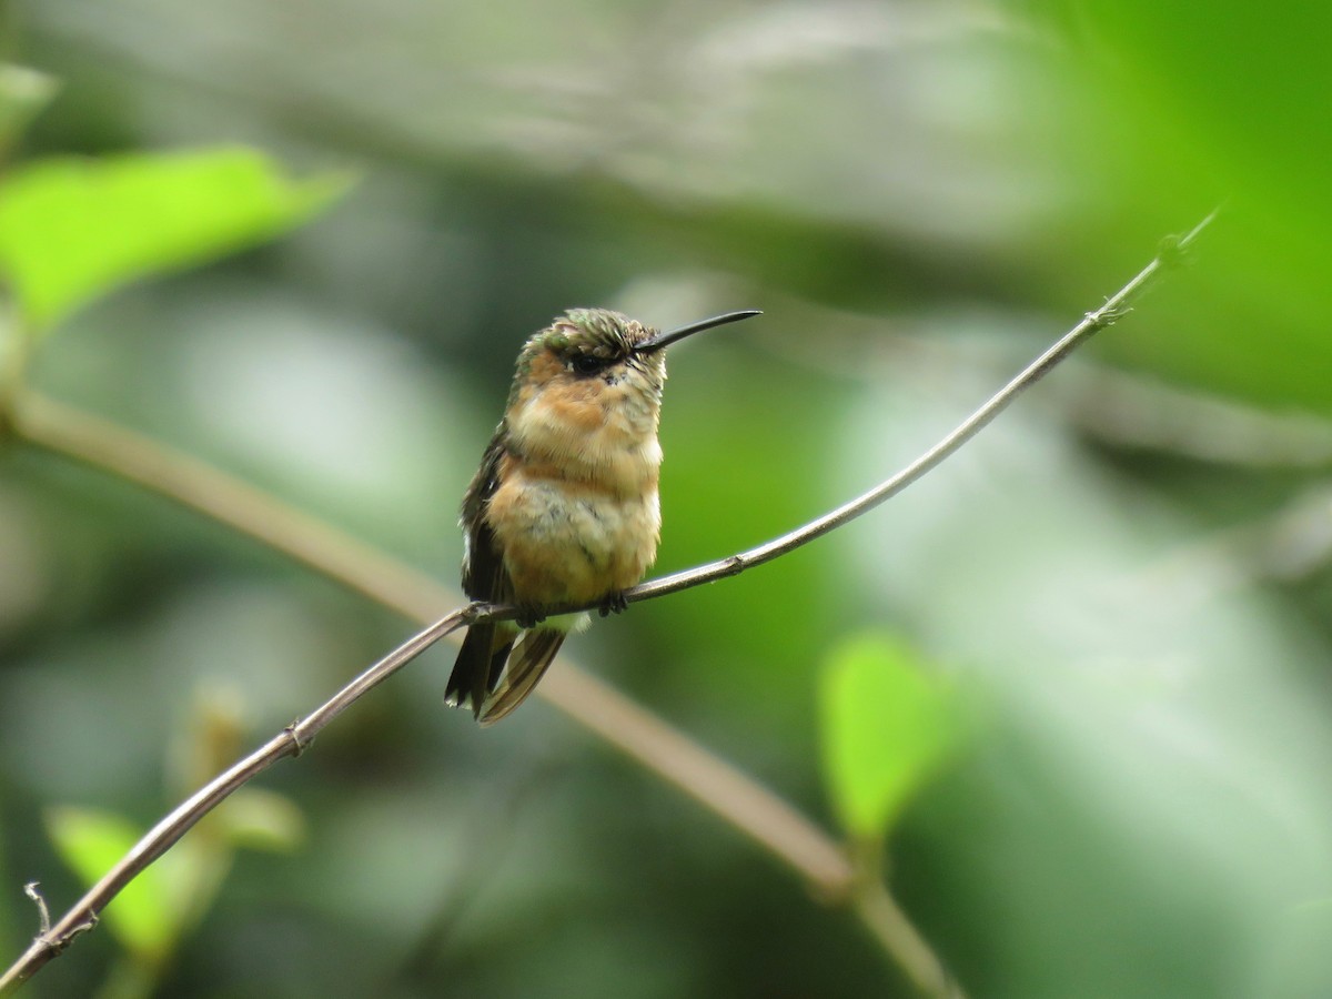
[[[88,887],[128,854],[141,835],[128,819],[95,809],[49,809],[45,819],[60,856]],[[153,959],[170,947],[176,916],[165,872],[155,864],[116,895],[104,922],[127,950]]]

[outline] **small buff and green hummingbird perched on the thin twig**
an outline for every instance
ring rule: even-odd
[[[462,500],[462,589],[515,603],[513,621],[468,629],[445,702],[493,725],[531,693],[570,630],[626,607],[657,557],[665,349],[758,316],[729,312],[659,333],[610,309],[569,309],[518,354],[503,418]]]

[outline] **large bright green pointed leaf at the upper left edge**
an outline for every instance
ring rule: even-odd
[[[41,330],[128,281],[262,242],[348,185],[292,181],[244,148],[41,160],[0,184],[0,272]]]

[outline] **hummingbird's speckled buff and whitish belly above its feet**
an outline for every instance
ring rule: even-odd
[[[486,514],[517,598],[581,603],[627,589],[657,557],[657,490],[623,498],[581,482],[510,477]]]

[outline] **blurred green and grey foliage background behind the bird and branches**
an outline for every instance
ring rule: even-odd
[[[920,650],[976,722],[886,866],[975,996],[1332,995],[1329,21],[11,0],[4,57],[61,89],[8,163],[241,143],[360,177],[281,240],[80,310],[29,381],[453,585],[527,334],[570,305],[761,308],[671,354],[670,571],[886,478],[1224,202],[900,498],[567,647],[830,830],[830,649]],[[60,910],[81,890],[61,810],[147,827],[410,630],[7,444],[4,954],[36,928],[24,882]],[[218,866],[157,995],[910,994],[850,915],[549,705],[484,733],[445,710],[450,665],[261,779],[269,848]],[[91,934],[25,995],[136,994],[121,951]]]

